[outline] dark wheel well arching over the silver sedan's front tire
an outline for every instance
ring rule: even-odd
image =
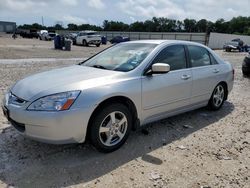
[[[124,96],[116,96],[116,97],[111,97],[111,98],[108,98],[104,101],[102,101],[97,107],[96,109],[94,110],[94,112],[91,114],[91,117],[89,119],[89,122],[88,122],[88,128],[87,128],[87,139],[88,139],[88,136],[89,136],[89,128],[93,122],[93,119],[95,117],[95,115],[102,109],[104,108],[105,106],[107,105],[110,105],[110,104],[114,104],[114,103],[120,103],[120,104],[123,104],[125,105],[129,111],[131,112],[131,115],[132,115],[132,120],[133,120],[133,125],[132,125],[132,129],[135,130],[138,126],[138,123],[139,123],[139,119],[138,119],[138,113],[137,113],[137,109],[135,107],[135,104],[133,103],[133,101],[127,97],[124,97]]]

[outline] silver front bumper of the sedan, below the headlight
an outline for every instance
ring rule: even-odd
[[[25,137],[51,144],[85,141],[90,116],[87,109],[27,111],[13,104],[2,108],[8,121]]]

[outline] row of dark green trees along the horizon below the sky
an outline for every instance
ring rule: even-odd
[[[54,26],[42,26],[38,23],[20,25],[20,29],[47,29],[47,30],[95,30],[95,31],[134,31],[134,32],[218,32],[231,34],[250,35],[250,17],[238,16],[230,21],[218,19],[211,22],[206,19],[195,20],[186,18],[183,21],[168,19],[164,17],[153,17],[151,20],[136,21],[131,24],[126,24],[120,21],[104,20],[102,26],[91,24],[77,25],[70,23],[67,27],[60,24]]]

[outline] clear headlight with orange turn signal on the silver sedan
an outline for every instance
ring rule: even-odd
[[[27,110],[61,111],[68,110],[79,96],[80,91],[68,91],[39,98]]]

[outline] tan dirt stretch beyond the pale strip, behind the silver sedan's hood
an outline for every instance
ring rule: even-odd
[[[90,46],[83,48],[72,45],[72,50],[54,50],[53,41],[40,41],[38,39],[11,39],[11,35],[0,35],[0,59],[24,59],[24,58],[82,58],[90,57],[108,45],[99,48]]]

